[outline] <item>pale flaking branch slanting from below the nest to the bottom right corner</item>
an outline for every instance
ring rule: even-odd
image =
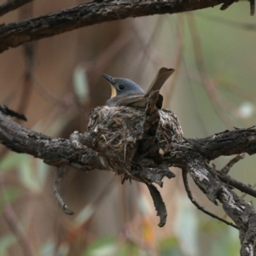
[[[224,211],[235,221],[240,232],[241,255],[255,255],[256,213],[252,203],[243,201],[218,177],[214,177],[203,159],[198,159],[196,155],[190,157],[187,162],[188,171],[197,186],[213,203],[220,201]]]

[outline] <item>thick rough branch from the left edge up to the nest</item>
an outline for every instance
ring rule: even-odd
[[[31,154],[52,166],[73,166],[91,171],[106,169],[95,152],[84,147],[83,152],[75,151],[69,140],[47,137],[18,125],[0,111],[0,142],[17,152]]]

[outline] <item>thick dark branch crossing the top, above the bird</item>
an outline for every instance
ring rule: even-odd
[[[158,2],[95,0],[51,15],[11,23],[0,27],[0,52],[9,49],[9,47],[17,47],[32,40],[48,38],[82,26],[128,17],[175,14],[195,9],[205,9],[224,3],[224,0],[180,2],[177,0]]]

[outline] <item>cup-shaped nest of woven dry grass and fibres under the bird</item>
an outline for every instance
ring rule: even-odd
[[[171,150],[170,142],[181,140],[183,133],[171,111],[158,111],[160,120],[154,145],[159,145],[156,154],[163,155]],[[131,176],[134,160],[139,156],[138,148],[148,139],[143,129],[146,119],[143,108],[104,106],[93,109],[87,133],[90,148],[102,156],[102,161],[111,171]],[[147,155],[144,153],[143,157]],[[136,165],[140,165],[138,161]]]

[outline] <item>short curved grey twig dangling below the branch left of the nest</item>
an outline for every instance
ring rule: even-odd
[[[73,215],[74,212],[67,207],[67,204],[65,203],[65,201],[63,201],[60,195],[61,179],[62,177],[64,177],[64,174],[65,174],[65,166],[57,167],[55,184],[54,184],[55,198],[58,204],[61,206],[61,209],[63,210],[63,212],[65,212],[68,215]]]

